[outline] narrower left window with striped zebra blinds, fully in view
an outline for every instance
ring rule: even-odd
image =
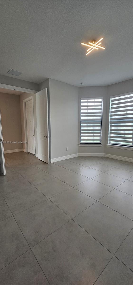
[[[80,99],[80,143],[101,143],[102,98]]]

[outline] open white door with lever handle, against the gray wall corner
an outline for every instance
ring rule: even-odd
[[[36,117],[37,117],[36,119],[37,119],[38,158],[42,161],[50,163],[47,88],[36,93]]]

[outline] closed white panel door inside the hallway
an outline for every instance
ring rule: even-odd
[[[26,105],[28,152],[35,154],[33,101],[32,100],[27,101],[25,105]]]

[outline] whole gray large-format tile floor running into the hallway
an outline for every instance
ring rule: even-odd
[[[1,285],[132,285],[132,164],[5,154]]]

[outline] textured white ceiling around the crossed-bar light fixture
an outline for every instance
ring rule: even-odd
[[[80,86],[132,78],[132,1],[0,1],[1,71]],[[81,42],[104,37],[85,55]]]

